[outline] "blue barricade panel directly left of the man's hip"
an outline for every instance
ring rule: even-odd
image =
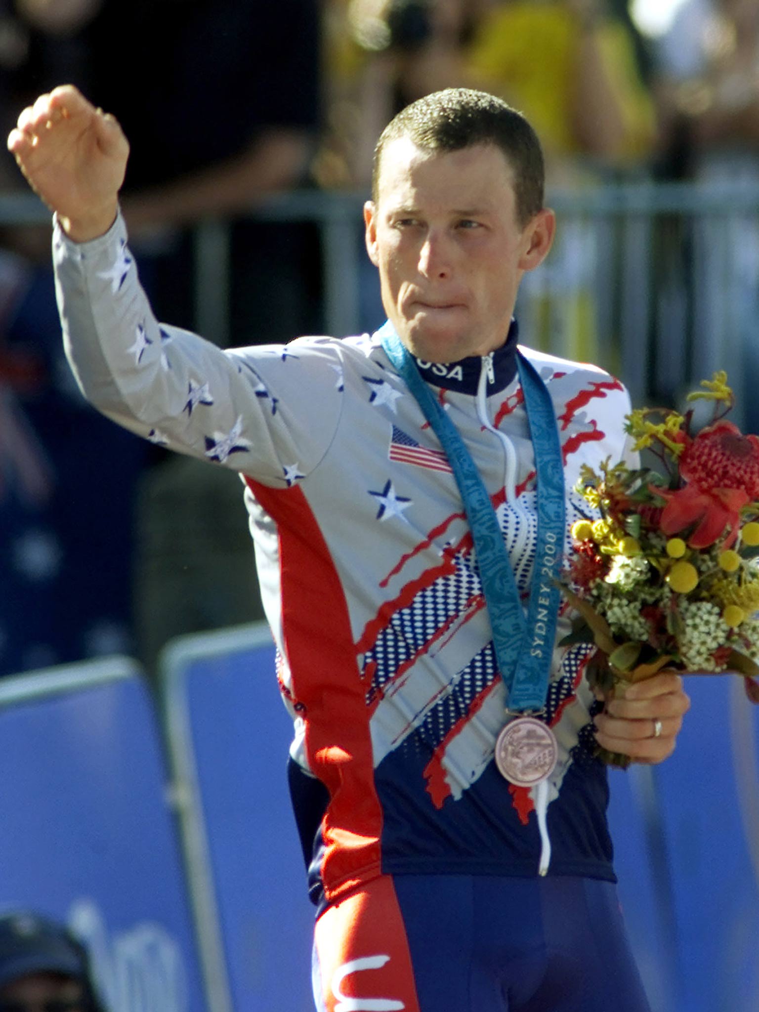
[[[314,908],[286,780],[292,723],[268,629],[175,641],[162,694],[196,922],[222,926],[223,953],[201,934],[204,962],[222,956],[235,1012],[313,1012]]]

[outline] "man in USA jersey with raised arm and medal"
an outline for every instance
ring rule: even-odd
[[[624,452],[629,404],[599,369],[517,351],[519,281],[555,231],[529,124],[467,90],[403,110],[364,210],[389,323],[228,352],[152,315],[117,214],[128,144],[112,117],[58,88],[9,147],[58,216],[65,340],[87,396],[244,477],[296,724],[318,1008],[647,1008],[593,722],[604,748],[658,762],[688,700],[661,674],[598,713],[590,649],[554,649],[571,490],[583,462]],[[541,696],[517,706],[527,683]]]

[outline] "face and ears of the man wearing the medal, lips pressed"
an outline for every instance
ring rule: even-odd
[[[425,152],[403,137],[383,152],[366,249],[388,318],[418,358],[456,361],[505,341],[522,274],[555,228],[547,209],[518,224],[512,178],[495,145]]]

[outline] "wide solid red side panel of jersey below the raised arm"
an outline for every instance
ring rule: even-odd
[[[298,486],[246,482],[277,523],[282,646],[292,693],[305,707],[309,766],[330,792],[322,822],[322,880],[332,902],[381,872],[383,812],[365,686],[340,578],[306,496]]]

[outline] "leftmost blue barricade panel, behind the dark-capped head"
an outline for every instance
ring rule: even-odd
[[[0,910],[68,922],[111,1012],[205,1012],[152,699],[126,660],[0,681]]]

